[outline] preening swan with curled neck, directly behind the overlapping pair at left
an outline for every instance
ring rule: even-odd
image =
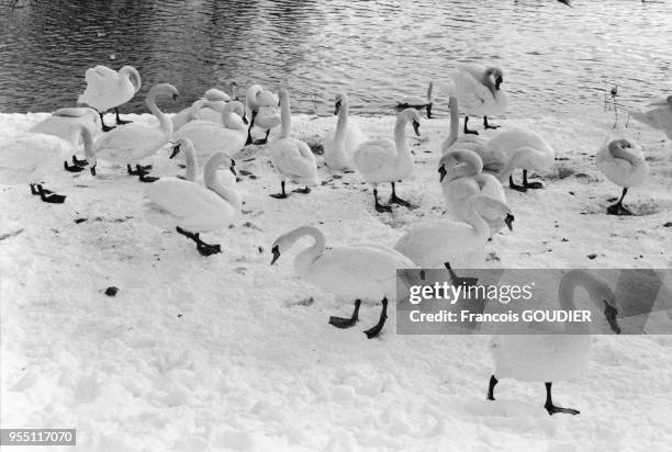
[[[203,106],[208,103],[204,101]],[[222,124],[204,120],[191,121],[172,136],[175,139],[189,138],[199,158],[206,159],[220,151],[233,157],[243,149],[247,137],[247,127],[240,118],[243,113],[243,104],[231,101],[222,110]],[[198,110],[192,112],[193,116],[197,114]]]

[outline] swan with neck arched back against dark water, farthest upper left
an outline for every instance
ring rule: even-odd
[[[96,109],[100,114],[100,122],[103,132],[108,132],[114,126],[105,125],[103,113],[114,109],[116,113],[116,124],[127,124],[119,117],[119,105],[128,102],[142,87],[139,72],[133,66],[124,66],[117,71],[107,66],[96,66],[87,69],[87,89],[79,97],[79,103]]]

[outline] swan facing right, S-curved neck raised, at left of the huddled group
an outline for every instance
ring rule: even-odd
[[[159,121],[159,126],[148,124],[126,124],[115,127],[104,134],[94,145],[91,174],[96,176],[96,162],[98,159],[126,163],[130,174],[141,177],[143,182],[153,182],[155,178],[146,177],[146,168],[137,165],[141,160],[154,155],[161,148],[172,135],[172,122],[156,106],[156,98],[159,95],[171,95],[172,100],[178,97],[178,90],[169,83],[160,83],[149,90],[147,94],[147,106]],[[136,169],[131,170],[131,163],[136,163]]]

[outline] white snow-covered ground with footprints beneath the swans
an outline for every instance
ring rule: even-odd
[[[0,137],[45,116],[0,115]],[[391,137],[393,121],[360,125]],[[318,143],[334,123],[296,116],[294,136]],[[620,189],[593,163],[611,117],[499,123],[535,127],[567,160],[541,174],[545,190],[507,190],[514,231],[455,267],[672,267],[662,134],[630,123],[651,176],[627,197],[638,216],[615,218],[606,200]],[[46,187],[68,195],[63,205],[0,187],[3,427],[76,427],[79,450],[111,452],[669,450],[672,338],[595,337],[585,377],[553,387],[556,402],[581,415],[551,418],[541,384],[503,381],[497,402],[485,402],[489,337],[396,336],[392,315],[368,340],[362,329],[379,307],[362,307],[349,330],[327,325],[351,307],[293,275],[301,247],[269,265],[273,239],[299,225],[321,227],[331,244],[393,245],[440,217],[436,162],[447,129],[447,120],[425,120],[425,140],[410,138],[416,171],[399,194],[421,207],[393,214],[376,213],[357,174],[333,179],[321,158],[324,185],[271,199],[279,182],[267,149],[244,150],[236,168],[255,177],[238,184],[244,215],[204,236],[224,250],[209,258],[147,219],[146,185],[122,168],[101,161],[97,178],[57,171]],[[156,155],[154,173],[181,173],[167,156]],[[115,297],[103,294],[111,285]]]

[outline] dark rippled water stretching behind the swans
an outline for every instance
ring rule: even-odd
[[[295,112],[328,114],[347,91],[358,114],[390,113],[429,79],[440,97],[455,63],[470,60],[504,69],[509,116],[600,112],[605,80],[626,105],[672,92],[672,1],[573,4],[0,0],[0,111],[72,105],[99,64],[139,70],[143,89],[123,109],[137,112],[158,82],[182,94],[164,104],[175,111],[235,80],[289,87]]]

